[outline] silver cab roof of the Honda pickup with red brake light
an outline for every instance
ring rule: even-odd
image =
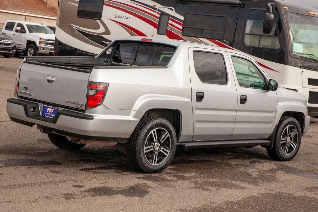
[[[233,50],[231,47],[224,48],[224,47],[219,47],[219,46],[212,46],[209,44],[200,44],[200,43],[196,43],[196,42],[175,40],[175,39],[169,39],[169,38],[121,37],[121,38],[116,38],[115,40],[117,40],[117,41],[118,40],[145,41],[145,42],[154,42],[154,43],[160,43],[160,44],[168,44],[168,45],[173,45],[176,47],[187,46],[187,47],[197,47],[197,48],[205,48],[205,49],[213,49],[213,50],[218,50],[218,51],[227,51],[227,52],[232,52],[232,53],[238,53],[238,51]],[[244,54],[244,53],[240,52],[240,54]]]

